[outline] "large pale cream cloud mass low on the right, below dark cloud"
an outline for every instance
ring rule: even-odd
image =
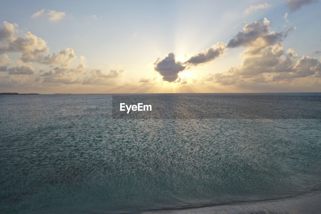
[[[293,49],[284,52],[283,45],[276,43],[259,53],[246,55],[241,65],[213,74],[207,80],[222,85],[270,84],[317,75],[321,71],[321,64],[317,59],[303,56],[296,61],[296,58],[297,54]]]

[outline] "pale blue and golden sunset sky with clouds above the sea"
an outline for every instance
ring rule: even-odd
[[[0,92],[321,92],[321,3],[0,1]]]

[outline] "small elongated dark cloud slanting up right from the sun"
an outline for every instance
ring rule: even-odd
[[[225,54],[226,44],[223,42],[218,42],[216,45],[213,45],[210,49],[206,51],[201,51],[189,58],[184,64],[189,65],[199,65],[204,64],[210,61],[213,61],[217,57],[221,57]]]

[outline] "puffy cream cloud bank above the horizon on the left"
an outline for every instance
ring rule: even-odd
[[[44,11],[37,12],[34,17],[40,16]],[[51,13],[50,13],[51,14]],[[45,40],[26,32],[24,37],[19,35],[17,24],[3,22],[0,26],[0,74],[1,86],[32,85],[37,84],[83,84],[83,85],[115,85],[117,78],[124,70],[110,70],[104,73],[100,69],[87,72],[86,59],[80,56],[76,66],[73,66],[77,56],[74,50],[66,48],[58,53],[48,53],[49,48]],[[20,53],[20,57],[13,62],[7,53]],[[11,63],[16,66],[10,67]],[[49,69],[36,69],[26,63],[36,63],[38,66],[47,66]],[[50,68],[51,67],[51,68]],[[8,76],[3,76],[7,74]],[[88,76],[89,75],[89,76]],[[23,78],[29,76],[30,78]],[[11,85],[10,85],[11,84]]]

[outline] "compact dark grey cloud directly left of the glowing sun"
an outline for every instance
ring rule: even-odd
[[[178,73],[185,68],[182,62],[175,60],[174,53],[169,53],[164,59],[158,58],[154,62],[155,71],[159,72],[163,80],[168,82],[174,82],[178,78]]]

